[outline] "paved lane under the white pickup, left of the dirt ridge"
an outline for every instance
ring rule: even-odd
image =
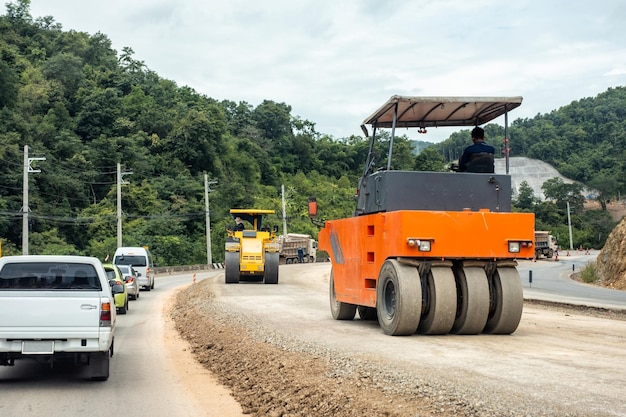
[[[219,416],[191,400],[165,343],[164,306],[174,289],[191,280],[191,274],[157,276],[155,289],[142,291],[138,300],[130,301],[128,313],[117,316],[108,381],[91,381],[83,369],[67,365],[50,369],[17,361],[13,367],[0,367],[0,416]]]

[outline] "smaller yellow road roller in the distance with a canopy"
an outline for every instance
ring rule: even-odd
[[[224,253],[226,284],[236,284],[240,279],[263,280],[278,284],[278,226],[270,231],[263,227],[263,218],[274,210],[231,209],[233,218],[240,218],[243,230],[227,229]]]

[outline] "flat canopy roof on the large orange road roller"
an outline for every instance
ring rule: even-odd
[[[454,127],[485,124],[519,107],[522,97],[408,97],[392,96],[363,121],[374,128]],[[395,122],[395,125],[394,125]]]

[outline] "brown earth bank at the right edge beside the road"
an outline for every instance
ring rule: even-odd
[[[600,284],[626,290],[626,219],[613,229],[596,259]]]

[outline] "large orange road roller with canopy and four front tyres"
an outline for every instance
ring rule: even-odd
[[[392,153],[398,128],[474,127],[504,115],[506,138],[508,112],[521,102],[392,96],[364,120],[369,150],[353,216],[325,220],[318,235],[332,262],[333,319],[352,320],[358,311],[394,336],[517,329],[523,309],[517,260],[534,257],[535,219],[512,212],[508,170],[394,170]],[[383,136],[388,146],[377,146],[381,129],[391,129]],[[508,158],[508,138],[504,148]]]

